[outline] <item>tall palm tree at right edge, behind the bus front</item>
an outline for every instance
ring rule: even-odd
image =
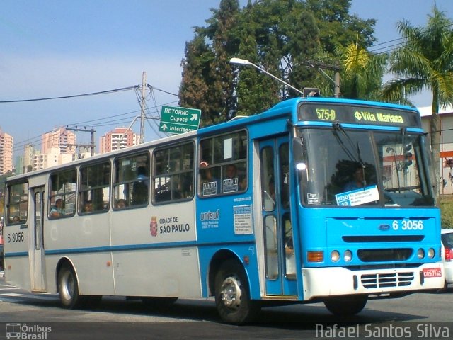
[[[384,84],[387,101],[406,100],[405,96],[432,91],[430,123],[431,152],[434,162],[435,196],[440,188],[440,106],[453,103],[453,23],[435,6],[426,27],[413,27],[408,21],[398,23],[406,40],[390,55],[389,70],[397,78]]]

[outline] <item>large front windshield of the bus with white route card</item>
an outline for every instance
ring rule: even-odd
[[[294,159],[302,204],[370,207],[433,206],[420,135],[406,130],[376,132],[299,130]]]

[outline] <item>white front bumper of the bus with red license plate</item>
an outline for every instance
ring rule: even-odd
[[[441,262],[417,268],[350,270],[343,267],[302,268],[304,300],[350,294],[386,294],[440,289],[445,283]]]

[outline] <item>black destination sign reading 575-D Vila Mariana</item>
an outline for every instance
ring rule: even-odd
[[[322,120],[332,123],[420,126],[420,116],[414,111],[321,102],[303,103],[299,107],[299,119]]]

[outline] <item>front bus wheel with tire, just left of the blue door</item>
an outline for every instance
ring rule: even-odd
[[[251,322],[260,307],[250,298],[248,281],[243,267],[234,260],[222,263],[215,276],[215,304],[224,322]]]

